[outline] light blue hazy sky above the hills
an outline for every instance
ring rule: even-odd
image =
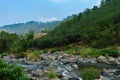
[[[0,0],[0,26],[31,20],[61,20],[101,0]]]

